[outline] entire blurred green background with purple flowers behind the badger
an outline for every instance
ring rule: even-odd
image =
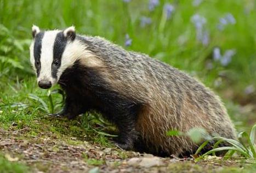
[[[255,20],[255,0],[0,0],[0,122],[32,114],[30,93],[47,98],[29,63],[32,25],[74,25],[196,76],[247,129],[256,122]]]

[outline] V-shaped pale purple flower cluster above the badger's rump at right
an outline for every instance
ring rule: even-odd
[[[213,50],[214,61],[219,61],[221,65],[226,66],[231,62],[232,56],[236,54],[235,49],[226,50],[222,56],[219,47],[215,47]]]

